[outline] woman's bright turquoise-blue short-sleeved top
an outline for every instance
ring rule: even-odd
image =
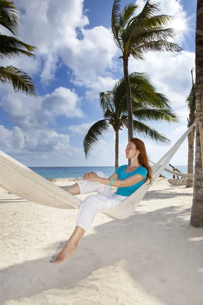
[[[118,180],[124,180],[134,174],[139,174],[142,175],[145,179],[138,182],[137,184],[131,186],[131,187],[125,187],[125,188],[118,188],[116,191],[116,195],[121,195],[121,196],[129,196],[132,193],[134,193],[136,190],[138,190],[144,183],[147,177],[147,169],[143,167],[142,165],[133,170],[131,173],[126,173],[125,169],[128,165],[121,165],[117,170],[116,173],[118,175]]]

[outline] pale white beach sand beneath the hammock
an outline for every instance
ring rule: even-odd
[[[55,265],[77,210],[0,190],[1,305],[202,305],[203,229],[189,225],[192,191],[159,178],[136,214],[97,214],[78,252]]]

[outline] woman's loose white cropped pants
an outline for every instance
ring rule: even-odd
[[[99,177],[106,178],[107,176],[102,171],[97,171]],[[89,194],[97,192],[98,195],[88,196],[80,205],[78,215],[76,218],[76,226],[87,231],[96,215],[96,212],[110,209],[120,204],[126,197],[115,195],[112,193],[111,187],[100,184],[99,182],[91,182],[81,179],[77,181],[80,188],[80,194]]]

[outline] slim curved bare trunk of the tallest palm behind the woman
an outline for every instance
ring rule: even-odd
[[[131,88],[128,74],[128,58],[123,58],[123,71],[124,81],[126,87],[126,99],[127,99],[127,115],[128,115],[128,140],[133,137],[133,120],[132,120],[132,101],[131,101]]]

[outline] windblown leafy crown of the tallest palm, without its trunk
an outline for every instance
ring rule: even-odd
[[[132,55],[135,59],[144,59],[144,53],[148,51],[182,50],[177,44],[167,41],[177,35],[174,28],[165,28],[175,17],[156,15],[160,11],[159,3],[150,3],[148,0],[142,12],[136,17],[132,16],[132,4],[126,6],[126,12],[127,10],[130,11],[128,22],[127,18],[124,19],[123,10],[123,15],[120,13],[120,24],[123,27],[120,26],[118,31],[119,43],[123,46],[123,58],[127,59]]]

